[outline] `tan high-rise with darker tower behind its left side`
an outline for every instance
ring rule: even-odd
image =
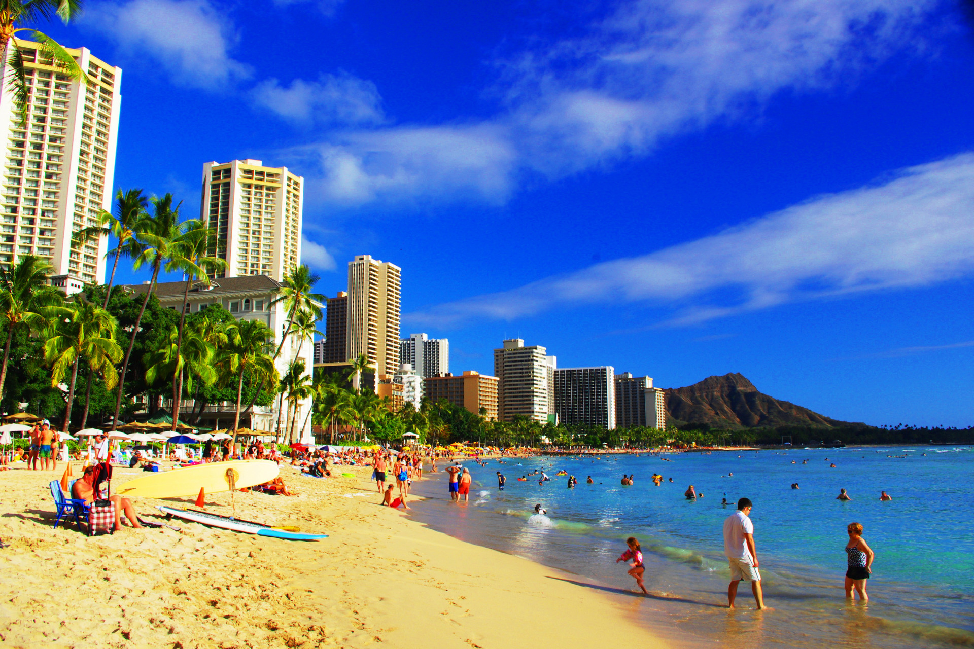
[[[401,269],[370,255],[349,262],[346,360],[365,354],[378,374],[399,369],[399,275]]]

